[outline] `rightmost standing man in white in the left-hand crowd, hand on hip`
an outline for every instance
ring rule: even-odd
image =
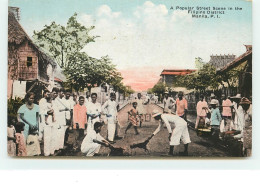
[[[114,143],[116,124],[117,124],[117,110],[118,104],[115,101],[116,94],[111,93],[110,99],[104,103],[102,106],[102,111],[106,113],[107,116],[107,138],[108,141]]]

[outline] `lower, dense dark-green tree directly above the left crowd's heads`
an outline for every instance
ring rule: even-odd
[[[101,59],[89,57],[84,52],[77,52],[68,57],[68,66],[64,69],[69,86],[75,90],[92,88],[103,83],[114,85],[122,81],[115,65],[105,56]]]

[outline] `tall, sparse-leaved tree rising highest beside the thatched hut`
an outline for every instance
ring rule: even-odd
[[[44,29],[34,31],[34,42],[44,48],[63,69],[68,67],[69,58],[79,52],[89,42],[94,42],[97,36],[90,36],[89,32],[95,27],[86,28],[77,21],[77,14],[71,16],[66,26],[52,22]]]

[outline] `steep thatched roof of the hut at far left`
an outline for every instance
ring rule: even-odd
[[[20,23],[16,20],[13,12],[8,11],[8,43],[13,43],[15,45],[20,45],[25,40],[28,40],[30,44],[38,51],[39,57],[50,63],[52,66],[56,66],[55,61],[45,52],[42,51],[38,46],[36,46],[30,37],[26,34]]]

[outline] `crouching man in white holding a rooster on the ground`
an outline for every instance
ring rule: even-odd
[[[101,145],[106,147],[111,146],[110,143],[105,140],[99,133],[101,131],[103,124],[101,122],[95,122],[94,129],[89,130],[86,137],[83,139],[81,144],[81,152],[89,157],[98,154]]]

